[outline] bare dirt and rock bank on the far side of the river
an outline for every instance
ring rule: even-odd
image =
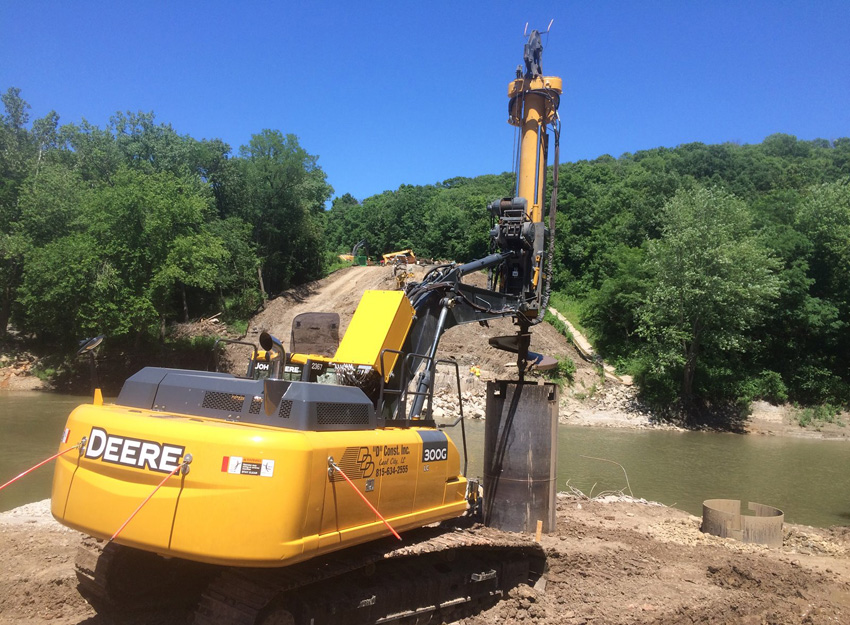
[[[413,266],[415,279],[424,277],[426,268]],[[475,273],[467,276],[469,284],[486,286],[486,276]],[[248,334],[243,337],[249,342],[259,339],[260,330],[267,330],[283,341],[289,350],[289,336],[296,315],[311,311],[337,311],[340,315],[339,333],[344,332],[354,314],[356,306],[365,290],[392,289],[395,280],[392,272],[385,267],[348,267],[314,283],[294,288],[266,303],[263,310],[248,324]],[[627,376],[618,376],[611,367],[598,366],[600,362],[593,348],[578,329],[573,327],[558,311],[558,316],[570,329],[572,340],[560,334],[548,323],[535,326],[532,346],[535,351],[560,359],[569,359],[575,363],[572,383],[561,388],[561,400],[558,409],[559,421],[566,425],[584,427],[613,427],[628,429],[679,430],[675,423],[668,423],[654,415],[637,399],[637,389]],[[210,337],[226,334],[215,319],[207,319],[189,324],[178,324],[173,328],[177,338]],[[440,342],[440,357],[454,359],[459,365],[461,391],[464,397],[464,414],[471,418],[481,418],[485,414],[486,380],[516,378],[516,361],[512,354],[495,349],[489,344],[493,336],[511,335],[516,327],[510,319],[497,319],[484,328],[475,323],[452,328]],[[231,338],[236,338],[231,337]],[[232,373],[241,375],[245,371],[248,350],[245,347],[230,346],[225,350],[227,357],[222,366],[229,366]],[[195,358],[206,365],[204,358]],[[21,351],[20,353],[0,353],[0,390],[44,389],[47,384],[32,375],[36,357]],[[127,372],[134,372],[142,364],[159,366],[200,366],[198,362],[182,362],[179,354],[163,361],[135,362]],[[109,368],[114,370],[115,367]],[[477,372],[473,373],[473,372]],[[102,372],[105,373],[105,372]],[[534,375],[534,372],[532,372]],[[435,416],[450,417],[457,414],[455,374],[446,367],[437,374],[437,397]],[[116,376],[113,375],[113,378]],[[103,376],[101,378],[103,380]],[[123,378],[113,379],[115,389],[120,388]],[[86,382],[86,385],[88,382]],[[843,438],[850,437],[850,428],[839,422],[824,423],[814,421],[807,427],[799,425],[798,411],[792,406],[771,406],[766,402],[756,402],[752,414],[743,424],[743,430],[766,436],[790,436],[805,438]],[[850,422],[850,415],[843,418]]]

